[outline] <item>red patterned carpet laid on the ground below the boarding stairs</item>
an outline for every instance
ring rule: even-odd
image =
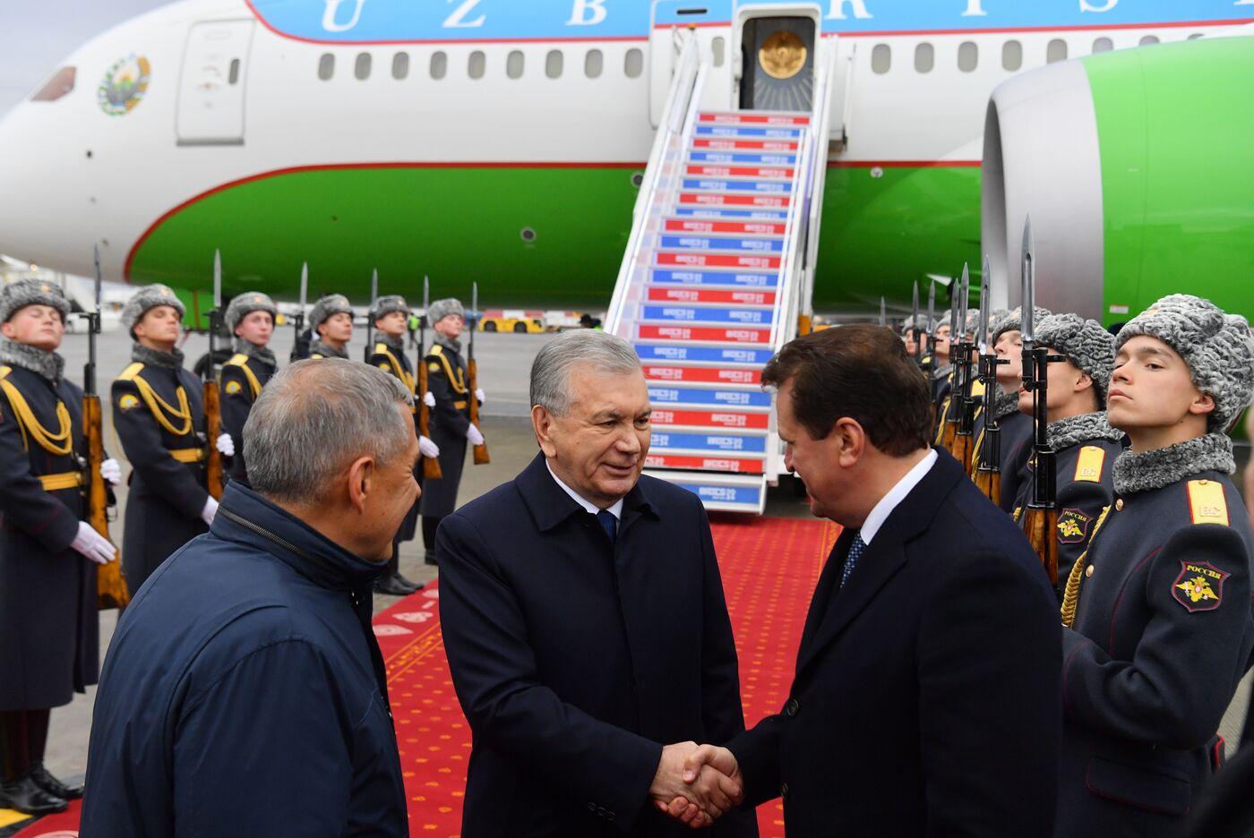
[[[788,700],[796,646],[810,594],[839,529],[814,520],[716,517],[714,540],[722,569],[740,655],[745,722],[752,725]],[[410,833],[455,838],[470,728],[458,706],[440,641],[439,589],[428,589],[375,618],[387,661],[387,686],[396,718]],[[18,838],[76,835],[78,807],[44,818]],[[759,808],[762,838],[784,835],[779,800]]]

